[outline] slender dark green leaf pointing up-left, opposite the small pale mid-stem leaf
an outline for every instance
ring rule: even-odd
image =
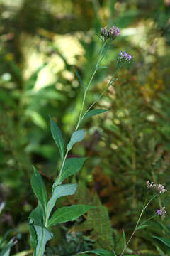
[[[51,122],[52,138],[55,140],[55,143],[57,144],[57,147],[60,151],[61,159],[63,160],[63,158],[64,158],[64,141],[62,139],[62,133],[60,132],[60,129],[57,126],[57,124],[55,123],[55,121],[53,121],[52,117],[50,117],[50,122]]]

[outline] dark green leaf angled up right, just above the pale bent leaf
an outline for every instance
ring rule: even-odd
[[[86,157],[81,157],[81,158],[72,157],[67,159],[62,169],[62,175],[60,176],[60,184],[62,183],[62,181],[64,181],[65,178],[68,178],[73,174],[77,174],[78,171],[80,171],[81,167],[83,166],[84,161],[86,161]],[[52,186],[53,188],[57,186],[57,182],[58,182],[58,178],[53,184]]]

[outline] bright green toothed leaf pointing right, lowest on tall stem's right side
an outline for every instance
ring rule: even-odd
[[[48,222],[48,226],[56,225],[57,223],[65,223],[67,221],[73,221],[86,213],[88,210],[95,208],[94,206],[86,205],[73,205],[64,206],[55,211]]]

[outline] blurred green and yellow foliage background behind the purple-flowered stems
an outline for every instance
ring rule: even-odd
[[[80,184],[74,201],[92,202],[97,193],[93,203],[101,215],[94,218],[102,223],[109,215],[110,226],[95,230],[94,225],[91,231],[81,219],[55,228],[46,252],[67,256],[103,247],[120,253],[122,228],[128,235],[132,232],[145,200],[145,182],[170,187],[170,1],[1,0],[0,18],[0,235],[15,229],[13,254],[30,250],[28,215],[36,206],[32,165],[42,174],[49,195],[60,166],[47,114],[67,143],[83,93],[72,65],[86,84],[101,48],[96,34],[106,25],[120,28],[102,63],[109,68],[96,74],[86,107],[107,86],[120,50],[134,60],[118,72],[115,85],[98,102],[96,107],[108,112],[86,119],[86,138],[68,156],[88,156],[74,177]],[[68,198],[67,203],[72,201]],[[169,237],[169,196],[159,198],[146,215],[164,205],[164,227],[158,218],[138,231],[131,252],[160,255],[162,250],[168,255],[152,235]],[[70,228],[73,233],[67,233]]]

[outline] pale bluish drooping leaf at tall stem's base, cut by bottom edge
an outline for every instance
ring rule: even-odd
[[[52,233],[47,230],[47,228],[44,228],[39,225],[34,225],[36,233],[37,233],[37,246],[35,250],[35,256],[43,256],[45,251],[45,245],[47,241],[52,239]]]

